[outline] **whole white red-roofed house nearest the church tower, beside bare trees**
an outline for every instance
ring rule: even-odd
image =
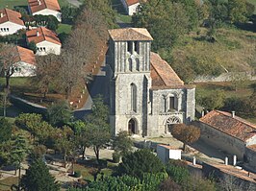
[[[57,34],[45,27],[39,27],[26,33],[27,42],[34,41],[37,45],[37,55],[61,54],[62,43]]]

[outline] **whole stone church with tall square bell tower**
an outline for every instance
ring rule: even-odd
[[[113,133],[159,136],[173,124],[190,123],[195,87],[184,84],[166,60],[150,52],[148,31],[114,29],[109,35],[106,71]]]

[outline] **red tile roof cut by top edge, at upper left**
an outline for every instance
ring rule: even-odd
[[[39,12],[44,9],[61,12],[58,0],[28,0],[31,12]]]

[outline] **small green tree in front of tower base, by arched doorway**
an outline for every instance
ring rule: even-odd
[[[114,138],[113,144],[115,153],[119,153],[120,155],[125,155],[133,149],[133,141],[127,131],[119,131]]]

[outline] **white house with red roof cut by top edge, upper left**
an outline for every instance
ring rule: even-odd
[[[28,3],[32,15],[53,15],[60,22],[62,21],[62,12],[58,0],[28,0]]]

